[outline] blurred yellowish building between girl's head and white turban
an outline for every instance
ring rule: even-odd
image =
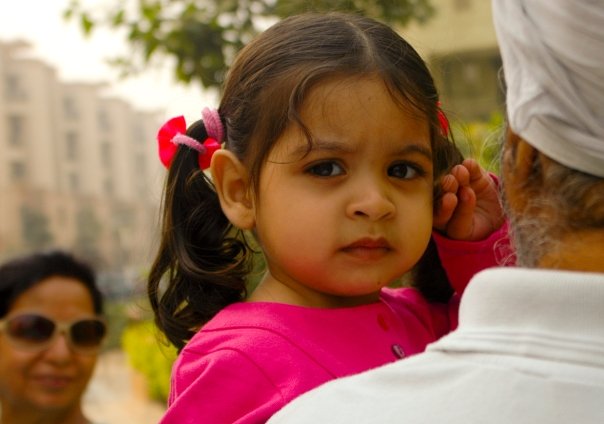
[[[503,113],[501,58],[488,0],[431,0],[436,14],[401,34],[422,55],[454,119],[486,121]]]

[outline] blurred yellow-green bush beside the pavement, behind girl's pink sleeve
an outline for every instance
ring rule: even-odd
[[[162,344],[151,321],[130,324],[122,335],[122,348],[132,368],[140,372],[151,399],[166,402],[170,391],[170,372],[176,349]]]

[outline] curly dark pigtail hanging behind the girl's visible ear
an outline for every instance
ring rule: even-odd
[[[206,139],[203,122],[194,123],[187,135]],[[156,325],[181,350],[218,311],[246,296],[251,251],[222,212],[193,149],[181,146],[174,156],[162,210],[147,293]]]

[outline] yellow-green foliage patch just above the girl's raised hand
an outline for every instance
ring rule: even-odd
[[[503,114],[494,112],[487,122],[452,122],[451,128],[464,157],[478,160],[483,168],[499,175],[503,124]]]

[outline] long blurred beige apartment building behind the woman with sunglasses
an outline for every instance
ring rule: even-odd
[[[0,259],[58,246],[102,269],[148,266],[159,114],[59,81],[28,53],[0,42]]]

